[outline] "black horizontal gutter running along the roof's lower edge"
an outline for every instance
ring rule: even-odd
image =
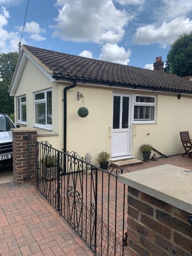
[[[116,86],[125,86],[125,87],[133,87],[133,89],[136,88],[142,88],[142,89],[150,89],[152,91],[169,91],[172,93],[189,93],[192,94],[192,91],[181,91],[181,90],[175,90],[175,89],[168,89],[168,88],[159,88],[159,87],[151,87],[151,86],[145,86],[145,85],[135,85],[135,84],[124,84],[124,83],[116,83],[116,82],[107,82],[107,81],[100,81],[100,80],[91,80],[91,79],[82,79],[82,78],[76,78],[76,77],[66,77],[66,76],[58,76],[58,75],[53,75],[52,76],[53,79],[59,80],[59,79],[63,79],[63,80],[69,80],[69,81],[76,81],[76,82],[89,82],[89,83],[99,83],[99,84],[107,84],[110,86],[116,85]]]

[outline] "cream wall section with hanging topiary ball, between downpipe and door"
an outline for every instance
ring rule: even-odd
[[[78,116],[82,99],[77,101],[77,91],[84,96],[89,110],[87,117]],[[82,104],[83,106],[83,104]],[[67,150],[80,156],[88,152],[92,163],[101,151],[111,152],[109,126],[112,123],[112,91],[102,88],[75,87],[67,91]]]

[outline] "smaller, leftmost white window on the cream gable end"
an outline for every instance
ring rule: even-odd
[[[26,95],[17,97],[17,123],[27,124]]]

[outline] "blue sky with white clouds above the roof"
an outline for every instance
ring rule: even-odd
[[[17,50],[27,0],[0,6],[0,52],[7,53]],[[22,43],[152,68],[191,30],[192,0],[29,0]]]

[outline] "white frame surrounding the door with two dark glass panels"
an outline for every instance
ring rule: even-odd
[[[122,158],[129,158],[132,155],[132,117],[133,117],[133,94],[132,93],[118,93],[118,92],[113,92],[112,97],[113,97],[113,101],[114,101],[114,96],[129,96],[129,148],[130,148],[130,154],[127,155],[119,155],[119,156],[111,156],[111,160],[116,160],[116,159],[122,159]],[[120,113],[120,115],[122,115],[122,112]],[[121,121],[121,117],[120,117],[120,121]],[[113,147],[113,140],[112,140],[112,136],[113,136],[113,102],[112,102],[112,125],[111,125],[111,151],[112,151],[112,147]]]

